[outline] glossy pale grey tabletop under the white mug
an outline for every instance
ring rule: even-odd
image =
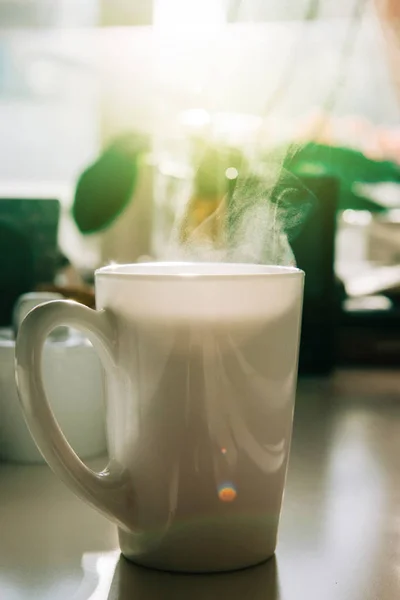
[[[400,598],[400,373],[300,383],[274,559],[170,575],[117,548],[114,526],[46,466],[0,466],[1,600]]]

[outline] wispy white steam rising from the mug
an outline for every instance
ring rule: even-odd
[[[315,204],[312,192],[284,168],[283,160],[269,159],[253,170],[231,167],[224,174],[234,176],[234,185],[200,223],[193,223],[196,200],[192,184],[186,183],[182,195],[192,199],[177,217],[164,258],[295,265],[290,241]]]

